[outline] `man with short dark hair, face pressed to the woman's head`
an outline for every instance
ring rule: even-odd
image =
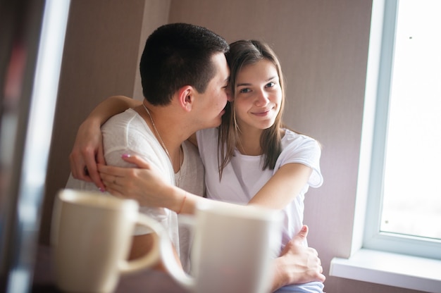
[[[128,166],[121,156],[137,154],[159,170],[169,184],[187,189],[194,187],[189,182],[204,182],[203,172],[197,173],[196,177],[183,172],[182,169],[196,169],[189,168],[190,165],[200,168],[201,163],[194,149],[182,142],[197,130],[221,124],[223,108],[228,101],[225,92],[229,77],[224,56],[226,51],[228,44],[225,40],[204,27],[180,23],[163,25],[153,32],[147,39],[140,62],[145,98],[143,104],[139,106],[136,101],[128,102],[135,108],[114,116],[101,128],[106,163]],[[87,123],[101,125],[103,121],[100,116],[96,119],[94,116],[95,113],[92,112]],[[87,132],[91,125],[87,123],[83,123],[80,132]],[[89,149],[89,146],[84,149],[82,146],[74,147],[70,156],[73,177],[89,181],[89,188],[96,189],[92,184],[93,179],[97,186],[104,189],[97,173],[95,151],[98,161],[104,163],[101,151]],[[186,165],[186,161],[192,164]],[[85,166],[88,168],[87,172]],[[70,178],[68,187],[74,187],[72,182],[75,180]],[[186,187],[185,184],[189,186]],[[201,194],[203,186],[195,189],[199,189],[199,192],[187,190]],[[176,213],[166,208],[142,207],[141,211],[163,223],[179,253]],[[131,257],[144,254],[149,249],[151,237],[145,233],[146,231],[137,231]],[[306,233],[307,230],[304,230],[299,237],[306,237]],[[324,280],[319,264],[306,270],[297,266],[305,262],[299,263],[297,260],[297,253],[302,247],[295,246],[296,241],[287,246],[283,258],[276,260],[278,264],[273,287],[292,282],[297,278],[293,278],[294,273],[299,273],[300,282],[303,279],[306,282],[308,278]],[[314,251],[302,253],[302,257],[318,262]],[[299,268],[302,272],[294,272]]]

